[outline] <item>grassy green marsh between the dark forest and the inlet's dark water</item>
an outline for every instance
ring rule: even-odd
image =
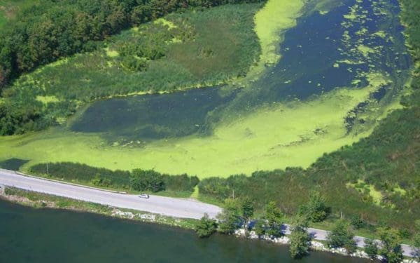
[[[44,103],[48,97],[90,102],[223,83],[246,74],[258,58],[258,8],[239,4],[170,14],[112,36],[92,53],[41,67],[10,88],[23,93],[16,98],[36,93]],[[144,67],[132,65],[142,61]]]

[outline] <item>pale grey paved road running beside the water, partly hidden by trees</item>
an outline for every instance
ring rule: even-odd
[[[0,169],[0,185],[1,184],[45,194],[100,203],[102,205],[111,205],[117,208],[129,208],[171,217],[200,219],[204,213],[207,213],[210,217],[214,218],[221,212],[221,208],[216,205],[209,205],[207,203],[200,203],[182,198],[151,196],[148,199],[144,199],[132,194],[120,194],[113,191],[104,191],[75,184],[66,184],[53,180],[18,175],[15,171],[3,169]],[[310,228],[308,231],[316,240],[325,241],[328,235],[328,231],[322,229]],[[290,234],[287,225],[285,234]],[[364,238],[356,236],[355,240],[358,247],[363,248],[365,244]],[[404,255],[412,255],[413,251],[409,245],[402,245],[402,249],[404,250]]]

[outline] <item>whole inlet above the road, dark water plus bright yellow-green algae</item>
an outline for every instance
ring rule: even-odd
[[[276,4],[282,16],[267,8]],[[95,102],[69,129],[1,138],[0,160],[30,160],[24,170],[74,161],[200,177],[249,175],[307,167],[369,135],[398,107],[411,60],[396,0],[305,6],[269,0],[267,6],[255,16],[261,60],[241,87]]]

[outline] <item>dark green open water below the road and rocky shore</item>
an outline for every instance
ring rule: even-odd
[[[0,201],[0,262],[295,262],[288,247]],[[312,252],[296,262],[367,262]]]

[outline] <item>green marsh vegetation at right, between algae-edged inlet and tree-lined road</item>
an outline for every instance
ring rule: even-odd
[[[307,170],[212,177],[200,182],[200,195],[223,200],[235,191],[237,197],[253,199],[258,208],[274,200],[286,213],[295,213],[308,200],[309,192],[316,190],[323,193],[336,215],[358,215],[371,224],[386,222],[413,229],[420,215],[420,2],[402,0],[401,4],[416,65],[412,93],[403,97],[403,109],[389,114],[369,137],[324,154]]]

